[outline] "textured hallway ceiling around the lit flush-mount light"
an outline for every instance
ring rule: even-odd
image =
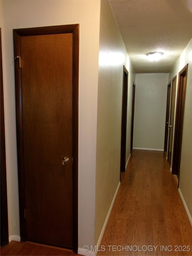
[[[168,73],[192,38],[192,0],[109,0],[136,73]],[[150,62],[145,54],[163,52]]]

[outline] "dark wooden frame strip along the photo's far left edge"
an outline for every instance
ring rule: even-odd
[[[1,28],[0,28],[0,88],[1,88],[1,246],[9,243],[8,232],[8,209],[7,209],[7,174],[6,174],[6,155],[5,155],[5,123],[4,123],[4,98],[3,98],[3,66],[2,66],[2,47],[1,47]]]

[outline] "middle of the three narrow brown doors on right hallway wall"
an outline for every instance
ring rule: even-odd
[[[175,113],[176,82],[177,82],[177,76],[174,77],[173,80],[172,80],[172,91],[171,91],[169,142],[168,142],[168,152],[167,152],[167,161],[169,162],[170,166],[171,166],[171,157],[172,157],[173,123],[174,123],[174,113]]]

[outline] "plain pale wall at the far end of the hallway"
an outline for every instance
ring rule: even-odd
[[[164,149],[168,74],[136,74],[133,148]]]

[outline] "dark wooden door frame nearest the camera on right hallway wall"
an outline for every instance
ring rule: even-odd
[[[184,105],[187,85],[187,70],[188,64],[182,68],[178,77],[178,89],[177,89],[177,104],[176,104],[176,119],[175,119],[175,134],[173,144],[173,162],[172,162],[172,174],[179,176],[180,163],[181,163],[181,149],[182,149],[182,133],[183,133],[183,119],[184,119]],[[184,76],[186,76],[186,82],[183,82]]]

